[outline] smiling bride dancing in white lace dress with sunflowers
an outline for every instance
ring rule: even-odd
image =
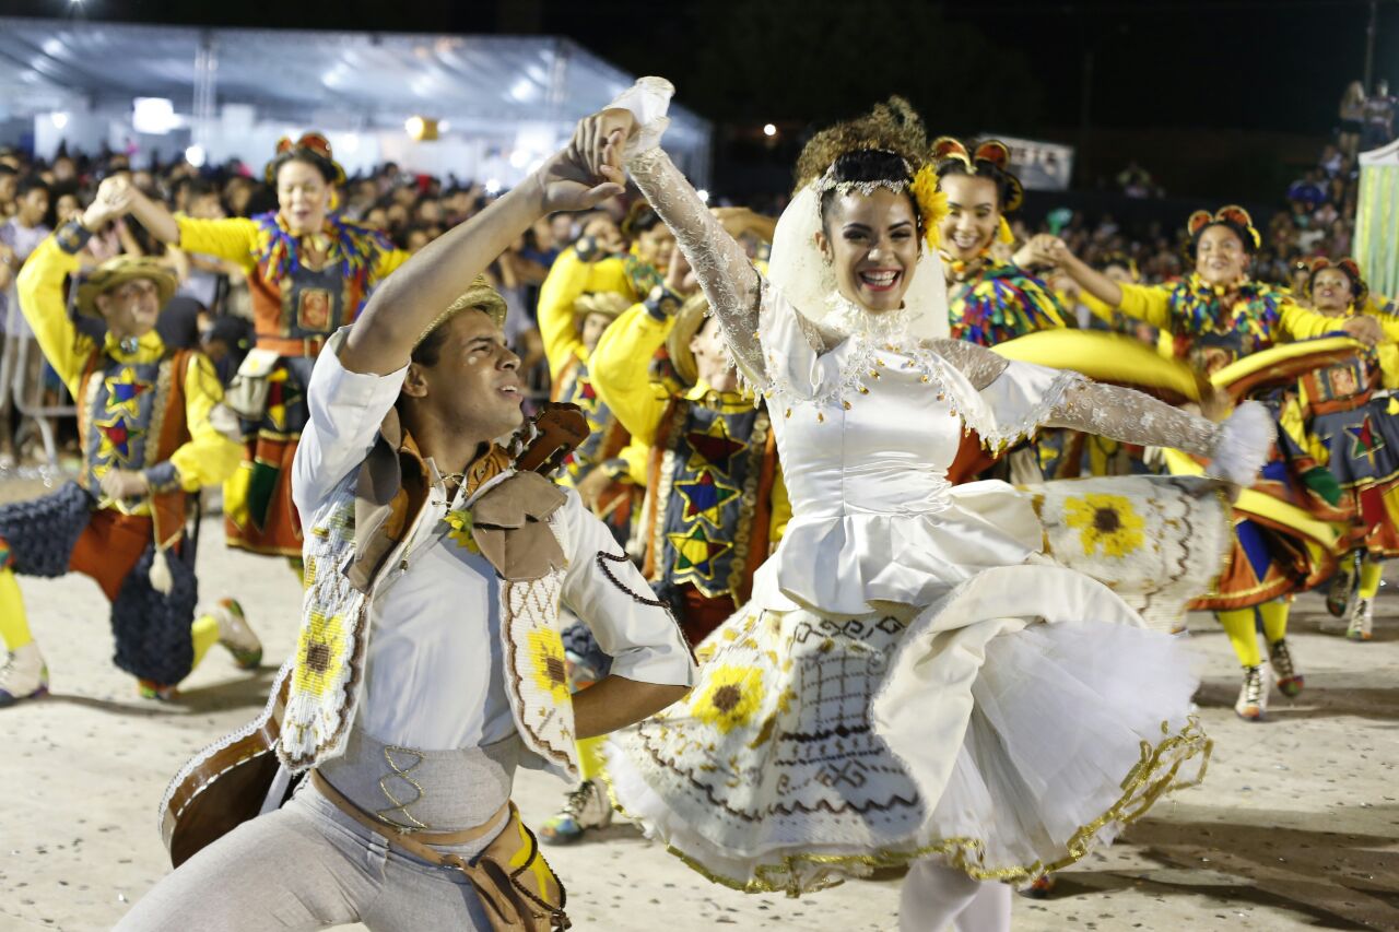
[[[1076,861],[1209,746],[1182,648],[1038,556],[1048,525],[1128,572],[1144,570],[1143,540],[1184,533],[1151,502],[1179,508],[1200,553],[1223,544],[1227,509],[1179,480],[1111,480],[1135,491],[1070,495],[1041,519],[1003,483],[949,487],[963,428],[993,446],[1042,424],[1101,431],[1249,481],[1266,416],[1220,427],[946,339],[922,248],[943,199],[900,109],[811,140],[760,277],[659,148],[670,94],[644,78],[571,151],[609,181],[625,155],[674,231],[767,396],[793,516],[695,690],[610,754],[617,796],[739,889],[797,894],[912,863],[902,928],[1009,928],[1009,887],[983,882]]]

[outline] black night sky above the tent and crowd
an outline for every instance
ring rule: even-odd
[[[936,133],[1053,139],[1083,153],[1102,151],[1104,132],[1136,134],[1136,148],[1118,146],[1109,158],[1154,157],[1167,172],[1195,139],[1171,130],[1200,130],[1200,146],[1240,130],[1315,140],[1332,132],[1342,91],[1364,73],[1370,8],[1368,0],[0,0],[14,15],[561,34],[631,73],[672,78],[680,102],[720,125],[720,162],[767,162],[783,175],[811,126],[895,92]],[[1378,4],[1374,76],[1399,85],[1399,0]],[[782,144],[758,151],[754,134],[767,122],[783,127]],[[1181,164],[1177,186],[1199,172]],[[1248,181],[1240,169],[1219,186]]]

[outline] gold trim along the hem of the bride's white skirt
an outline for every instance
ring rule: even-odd
[[[1122,779],[1123,795],[1105,813],[1081,826],[1065,842],[1065,855],[1052,861],[1037,861],[1031,865],[986,866],[986,842],[981,838],[940,838],[929,845],[922,845],[905,851],[881,849],[865,855],[823,855],[823,854],[795,854],[783,855],[774,863],[761,863],[753,869],[751,880],[736,880],[713,873],[701,862],[667,845],[666,851],[680,858],[691,870],[712,883],[739,890],[741,893],[786,893],[797,897],[803,893],[816,893],[844,883],[849,876],[863,876],[873,870],[897,868],[919,858],[943,855],[950,866],[967,872],[974,880],[999,880],[1007,883],[1027,883],[1038,876],[1062,870],[1083,859],[1093,848],[1095,835],[1108,824],[1119,823],[1130,826],[1156,802],[1168,792],[1189,789],[1205,779],[1209,768],[1210,754],[1214,742],[1200,729],[1199,719],[1189,716],[1186,725],[1175,735],[1170,733],[1170,725],[1161,722],[1164,740],[1153,746],[1142,742],[1142,760]],[[1193,757],[1200,757],[1200,767],[1189,779],[1177,779],[1181,765]],[[609,781],[609,789],[611,789]],[[617,803],[616,796],[613,798]],[[621,810],[621,806],[617,806]],[[818,872],[806,883],[796,879],[802,868],[827,868]],[[855,868],[855,870],[845,870]],[[845,875],[845,876],[841,876]]]

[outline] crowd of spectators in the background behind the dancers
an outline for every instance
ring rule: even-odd
[[[1294,271],[1305,259],[1335,259],[1350,253],[1358,188],[1357,153],[1393,139],[1395,123],[1395,98],[1389,97],[1384,83],[1368,97],[1363,92],[1357,95],[1357,88],[1358,83],[1346,91],[1335,140],[1321,151],[1315,165],[1280,192],[1283,207],[1263,224],[1256,277],[1294,284]],[[50,161],[41,161],[17,150],[0,150],[0,263],[8,271],[7,277],[13,278],[25,256],[55,227],[83,211],[102,178],[118,172],[127,172],[145,195],[193,217],[250,217],[276,209],[274,192],[253,171],[236,162],[203,169],[186,161],[137,167],[122,153],[88,155],[60,148]],[[1121,172],[1116,182],[1123,197],[1161,195],[1150,172],[1136,162]],[[445,230],[481,210],[495,193],[453,176],[418,175],[389,162],[350,179],[340,193],[339,210],[350,220],[382,230],[396,246],[417,252]],[[539,287],[554,257],[585,232],[614,249],[625,248],[620,232],[623,218],[624,206],[618,202],[585,217],[541,220],[512,243],[491,269],[494,284],[512,306],[511,339],[533,374],[533,388],[539,393],[547,392],[547,367],[533,325]],[[1051,211],[1035,227],[1017,220],[1013,230],[1021,241],[1035,232],[1056,232],[1086,260],[1100,266],[1129,263],[1139,280],[1156,283],[1186,271],[1185,234],[1179,220],[1126,225],[1108,213],[1090,218],[1065,209]],[[175,312],[164,315],[162,332],[176,344],[193,344],[203,339],[211,354],[225,357],[220,368],[231,374],[229,365],[236,361],[236,353],[231,353],[229,347],[248,346],[252,340],[246,281],[238,266],[165,248],[132,220],[118,221],[94,236],[88,250],[84,260],[90,266],[118,253],[158,256],[169,263],[182,285]],[[1067,283],[1053,284],[1069,287]],[[0,288],[0,326],[8,327],[18,339],[31,339],[20,315],[7,308],[4,288]],[[14,343],[7,340],[7,346]],[[60,386],[52,375],[45,378],[41,372],[38,354],[31,351],[28,357],[34,374],[25,376],[25,383],[35,393],[27,399],[28,404],[43,407],[60,403]],[[27,441],[32,446],[36,438],[36,432],[25,425],[11,439],[10,395],[0,392],[0,399],[4,399],[0,409],[0,469],[13,466],[20,455],[17,449],[22,453]]]

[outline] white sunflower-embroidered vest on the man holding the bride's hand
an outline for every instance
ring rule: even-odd
[[[400,474],[396,420],[385,423],[358,474],[346,477],[309,522],[305,558],[305,598],[297,651],[287,661],[290,691],[281,721],[277,756],[301,772],[344,753],[350,726],[364,694],[364,665],[369,644],[369,607],[375,585],[406,546],[422,502],[421,476]],[[488,486],[520,480],[539,500],[558,490],[534,473],[501,472]],[[537,488],[534,487],[537,486]],[[476,509],[485,523],[487,501]],[[501,516],[499,525],[512,521]],[[543,518],[562,549],[557,512]],[[497,563],[492,549],[483,553]],[[564,642],[558,630],[558,599],[564,568],[534,579],[504,578],[499,585],[499,637],[504,647],[505,693],[525,744],[544,767],[576,779],[574,707],[564,676]]]

